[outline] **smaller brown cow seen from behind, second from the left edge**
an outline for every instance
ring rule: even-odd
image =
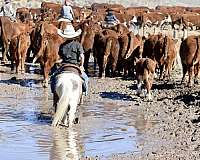
[[[28,33],[21,33],[17,37],[13,37],[10,42],[10,54],[11,54],[11,69],[13,67],[13,61],[16,64],[16,73],[25,72],[25,60],[28,48],[30,47],[30,35]]]

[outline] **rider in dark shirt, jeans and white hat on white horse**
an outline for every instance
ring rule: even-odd
[[[81,71],[81,77],[84,80],[83,92],[85,95],[88,93],[89,78],[84,72],[84,50],[82,45],[77,41],[81,35],[81,29],[75,31],[71,23],[67,23],[66,28],[62,31],[58,29],[58,34],[67,40],[60,46],[59,55],[62,59],[61,67],[65,65],[75,65]],[[59,69],[58,69],[59,70]],[[54,85],[54,84],[52,84]]]

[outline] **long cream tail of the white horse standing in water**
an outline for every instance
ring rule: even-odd
[[[56,127],[58,126],[64,116],[66,115],[69,107],[69,88],[64,87],[63,84],[61,84],[58,88],[58,96],[60,96],[60,99],[57,104],[57,110],[52,122],[52,126]]]

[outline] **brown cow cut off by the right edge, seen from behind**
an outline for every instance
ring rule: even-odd
[[[195,75],[195,82],[198,82],[200,69],[200,36],[189,36],[182,41],[180,46],[180,57],[183,67],[183,78],[181,83],[185,80],[185,75],[189,73],[188,86],[193,85],[193,77]]]

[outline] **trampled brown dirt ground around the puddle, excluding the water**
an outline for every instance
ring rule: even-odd
[[[1,90],[11,88],[17,92],[16,85],[9,85],[5,74],[10,72],[8,67],[0,66]],[[145,115],[145,119],[156,121],[154,125],[146,124],[142,129],[145,139],[137,147],[142,151],[135,153],[113,154],[106,159],[110,160],[160,160],[160,159],[200,159],[200,86],[195,84],[188,88],[180,84],[181,71],[174,70],[172,79],[168,83],[155,79],[152,88],[153,101],[149,102],[136,93],[136,81],[133,79],[90,77],[89,95],[84,101],[107,101],[127,106],[128,112],[137,107]],[[10,77],[15,77],[11,74]],[[19,76],[21,79],[35,79],[30,74]],[[18,77],[18,78],[19,78]],[[41,79],[41,77],[40,77]],[[23,82],[23,81],[22,81]],[[24,88],[24,92],[30,90]],[[2,93],[5,94],[5,93]],[[84,102],[83,102],[84,103]],[[83,158],[101,159],[101,158]]]

